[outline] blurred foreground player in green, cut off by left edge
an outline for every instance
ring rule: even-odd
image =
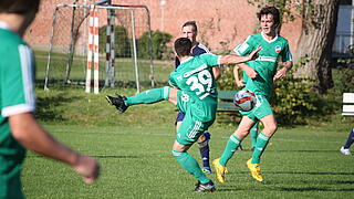
[[[0,1],[0,199],[24,198],[20,176],[25,148],[70,165],[85,182],[93,182],[100,171],[95,159],[56,142],[33,116],[34,59],[22,35],[39,4]]]

